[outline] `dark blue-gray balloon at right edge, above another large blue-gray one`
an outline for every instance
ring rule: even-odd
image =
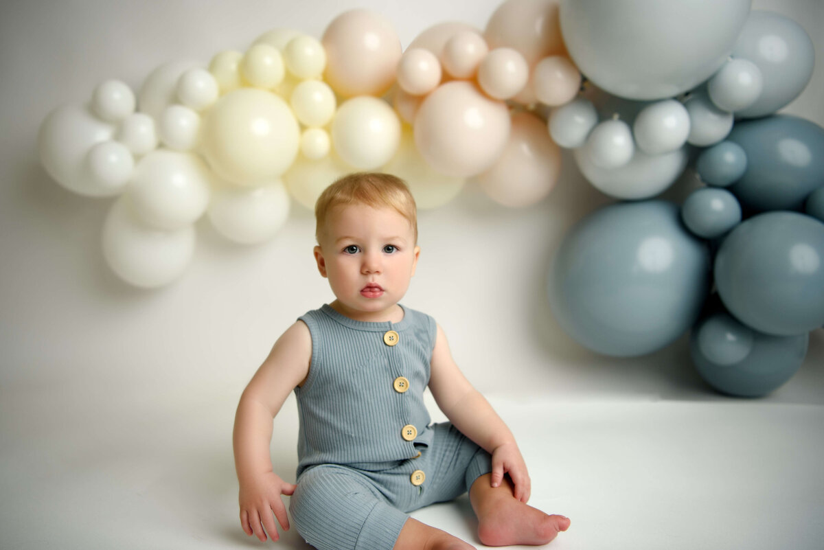
[[[747,170],[729,189],[745,211],[797,210],[824,185],[824,128],[790,114],[743,120],[728,140],[747,154]]]

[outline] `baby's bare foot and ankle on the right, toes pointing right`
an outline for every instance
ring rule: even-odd
[[[487,546],[546,544],[560,531],[569,529],[569,519],[563,515],[547,515],[518,501],[508,478],[503,478],[499,487],[492,487],[491,475],[477,478],[469,492],[472,509],[478,516],[481,543]]]

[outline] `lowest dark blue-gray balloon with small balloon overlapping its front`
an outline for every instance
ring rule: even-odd
[[[798,371],[808,342],[809,333],[770,336],[717,313],[695,326],[690,353],[698,373],[715,389],[738,397],[761,397]]]

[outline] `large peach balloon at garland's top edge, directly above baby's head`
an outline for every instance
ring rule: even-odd
[[[391,22],[368,10],[341,13],[321,38],[325,81],[341,96],[382,96],[395,82],[402,49]]]

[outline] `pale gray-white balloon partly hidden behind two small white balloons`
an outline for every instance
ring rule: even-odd
[[[602,168],[592,163],[583,147],[573,152],[583,176],[611,197],[638,200],[651,198],[676,182],[686,168],[689,156],[686,147],[662,155],[647,155],[635,150],[634,155],[619,168]]]

